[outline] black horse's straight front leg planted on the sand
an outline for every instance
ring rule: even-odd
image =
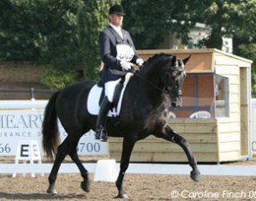
[[[131,153],[133,151],[133,148],[135,146],[135,141],[134,139],[123,139],[122,142],[122,152],[121,152],[121,163],[120,163],[120,172],[118,174],[118,178],[115,182],[115,185],[118,190],[118,195],[116,198],[128,198],[128,196],[125,194],[125,191],[122,188],[122,181],[124,178],[124,174],[128,169],[129,165],[129,160]]]

